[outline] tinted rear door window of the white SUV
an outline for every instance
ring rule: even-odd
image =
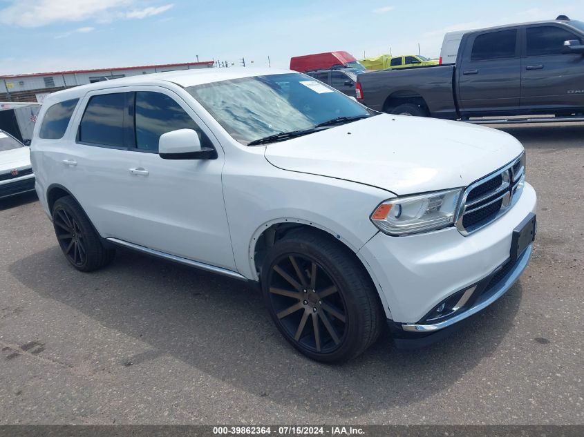
[[[124,146],[124,110],[128,94],[95,95],[89,99],[79,124],[79,141],[104,146]]]

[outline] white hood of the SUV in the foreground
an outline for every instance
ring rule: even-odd
[[[265,158],[284,170],[404,195],[467,186],[522,150],[520,142],[500,130],[382,114],[268,144]]]

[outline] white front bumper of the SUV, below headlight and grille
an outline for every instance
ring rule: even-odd
[[[470,308],[461,309],[448,320],[433,324],[420,322],[453,293],[473,284],[491,282],[491,275],[509,258],[514,229],[529,213],[535,213],[536,202],[534,188],[526,183],[513,208],[466,237],[452,227],[406,237],[377,233],[361,248],[359,255],[379,286],[388,319],[411,333],[431,333],[494,302],[527,266],[531,246],[504,278],[497,284],[489,284],[489,291],[484,291]]]

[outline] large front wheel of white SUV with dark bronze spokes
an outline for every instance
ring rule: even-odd
[[[266,254],[261,285],[276,327],[313,360],[354,358],[385,326],[364,266],[355,253],[320,231],[291,231],[276,242]]]

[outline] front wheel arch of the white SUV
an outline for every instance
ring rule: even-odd
[[[326,226],[322,226],[321,224],[314,221],[288,217],[270,220],[270,222],[265,222],[259,226],[252,236],[252,240],[249,242],[249,262],[251,264],[252,274],[254,275],[254,278],[252,278],[253,280],[257,282],[260,281],[261,265],[265,260],[267,249],[270,249],[270,246],[283,238],[286,233],[292,229],[299,228],[309,229],[326,234],[328,237],[335,239],[338,244],[341,244],[342,246],[346,247],[346,249],[349,249],[349,251],[355,255],[355,258],[357,258],[373,282],[386,317],[389,319],[391,318],[391,312],[388,307],[388,302],[383,293],[381,284],[379,280],[377,280],[373,269],[371,269],[371,266],[366,262],[362,254],[359,252],[359,249],[361,248],[352,246],[352,244],[344,240],[339,233],[332,231]]]

